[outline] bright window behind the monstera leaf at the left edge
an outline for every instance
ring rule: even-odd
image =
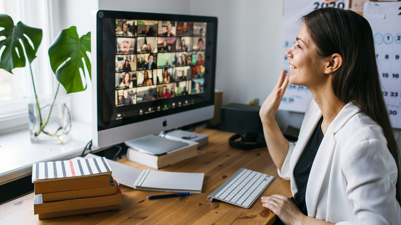
[[[51,0],[0,0],[0,13],[43,30],[37,58],[32,63],[35,86],[39,95],[52,95],[54,75],[50,70],[47,50],[51,28]],[[0,40],[4,37],[0,37]],[[3,50],[0,50],[2,52]],[[14,68],[13,74],[0,69],[0,134],[28,127],[27,97],[33,96],[29,66]]]

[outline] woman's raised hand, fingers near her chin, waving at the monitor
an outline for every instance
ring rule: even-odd
[[[281,99],[284,96],[285,89],[288,85],[288,76],[285,74],[285,70],[281,71],[280,78],[271,91],[269,96],[263,102],[259,110],[259,116],[264,120],[273,121],[275,119],[276,112],[280,106]]]

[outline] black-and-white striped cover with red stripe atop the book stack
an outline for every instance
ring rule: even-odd
[[[32,164],[32,183],[106,174],[111,175],[112,170],[104,157]]]

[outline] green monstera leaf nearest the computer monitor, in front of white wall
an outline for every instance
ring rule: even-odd
[[[90,52],[90,32],[79,37],[75,26],[62,30],[49,48],[51,69],[67,93],[86,89],[86,76],[83,76],[84,86],[80,69],[85,73],[84,61],[90,78],[90,60],[87,52]]]

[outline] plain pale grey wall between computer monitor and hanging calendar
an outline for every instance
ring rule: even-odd
[[[258,98],[260,104],[281,71],[283,2],[264,0],[191,0],[191,14],[217,16],[216,88],[223,104]],[[301,126],[303,114],[278,111],[281,129]]]

